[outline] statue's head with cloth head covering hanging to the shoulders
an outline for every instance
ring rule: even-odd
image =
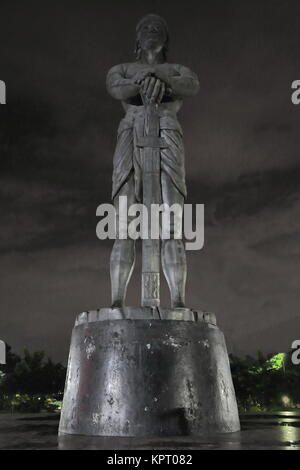
[[[153,13],[144,16],[136,26],[135,55],[137,60],[142,51],[155,50],[162,52],[164,60],[167,58],[169,44],[168,26],[165,20]]]

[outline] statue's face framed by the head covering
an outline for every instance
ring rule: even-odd
[[[142,26],[138,40],[141,49],[144,51],[155,50],[160,52],[166,43],[167,34],[159,21],[152,20]]]

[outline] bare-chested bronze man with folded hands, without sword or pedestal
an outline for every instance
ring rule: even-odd
[[[137,141],[144,135],[144,111],[149,103],[156,105],[159,134],[167,143],[165,148],[160,149],[162,202],[168,206],[184,204],[184,146],[176,114],[183,98],[198,92],[199,82],[195,73],[187,67],[167,62],[168,43],[169,34],[164,19],[154,14],[146,15],[136,27],[136,61],[116,65],[107,75],[108,92],[122,101],[126,112],[119,125],[113,160],[112,197],[117,216],[120,196],[127,196],[128,206],[142,202],[142,150]],[[170,239],[162,240],[162,268],[170,288],[172,307],[184,307],[185,250],[182,239],[174,238],[173,224],[170,229]],[[135,241],[117,236],[110,264],[112,308],[124,306],[134,259]]]

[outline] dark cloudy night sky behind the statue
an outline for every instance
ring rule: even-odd
[[[216,313],[235,354],[286,351],[300,337],[298,0],[1,0],[0,338],[66,362],[75,316],[110,304],[96,208],[123,111],[105,79],[150,12],[169,24],[168,60],[200,80],[179,114],[187,202],[206,214],[187,305]],[[127,304],[139,288],[137,263]]]

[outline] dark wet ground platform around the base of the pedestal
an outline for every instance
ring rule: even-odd
[[[240,432],[190,437],[58,437],[58,423],[53,413],[0,413],[0,450],[300,450],[299,411],[248,413],[241,415]]]

